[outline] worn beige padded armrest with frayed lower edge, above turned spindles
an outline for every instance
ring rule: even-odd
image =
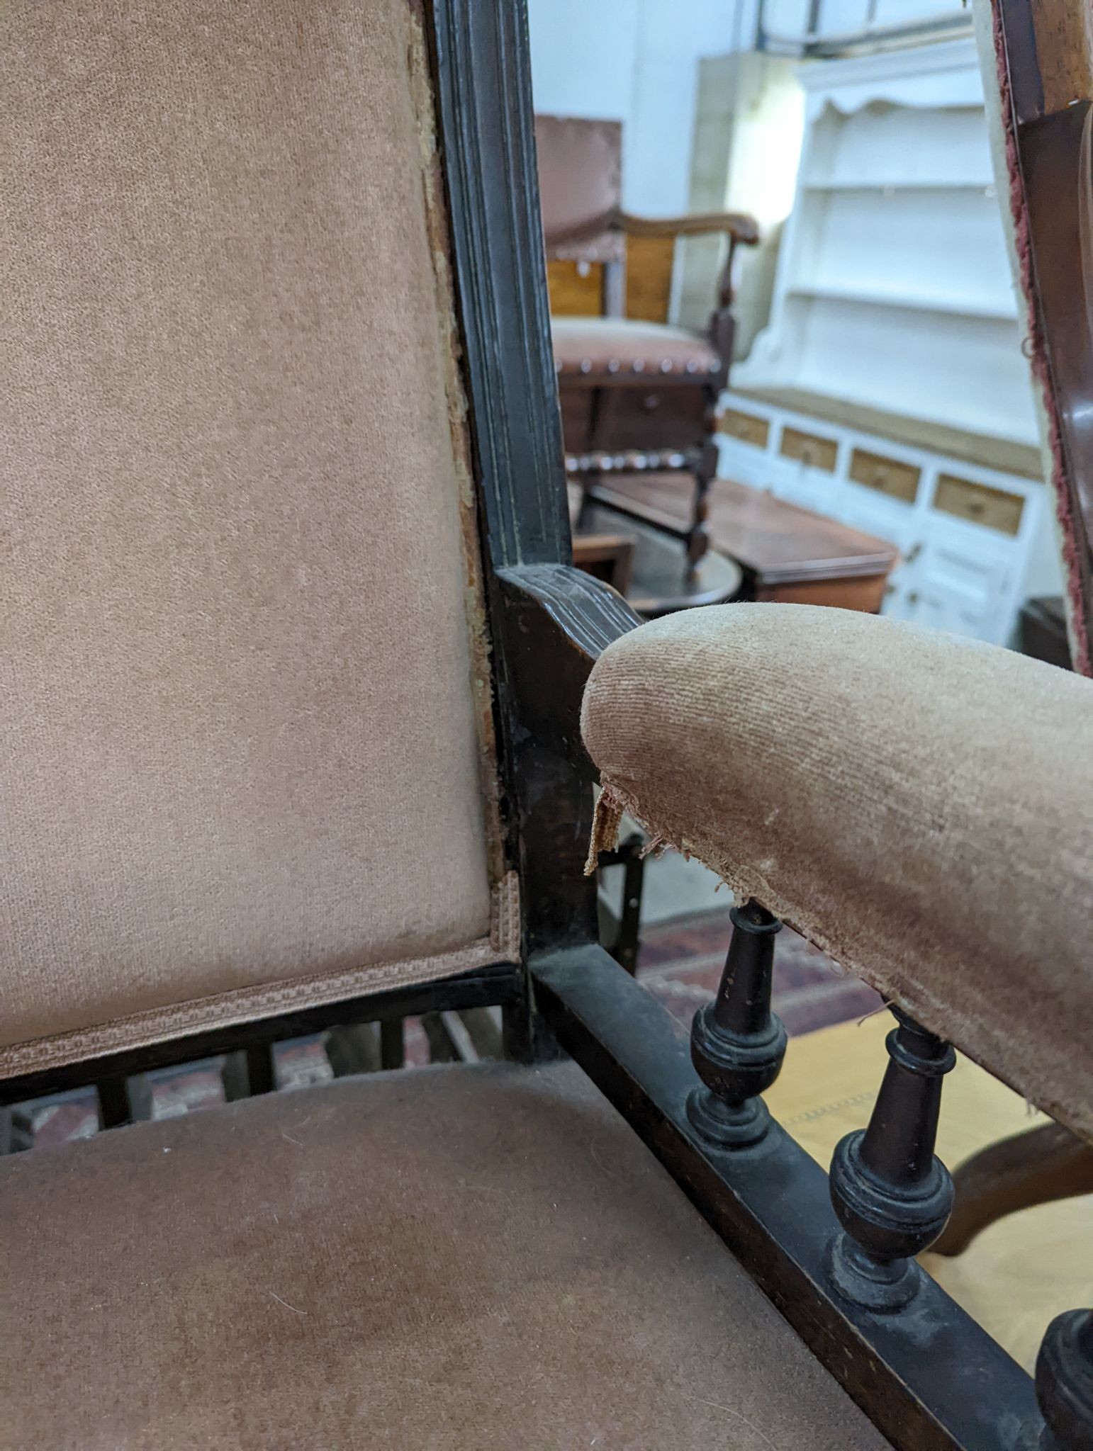
[[[624,804],[1093,1138],[1093,682],[851,611],[643,625],[588,682]]]

